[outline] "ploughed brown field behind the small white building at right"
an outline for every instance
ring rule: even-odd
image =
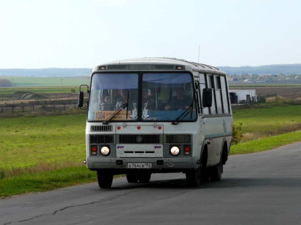
[[[244,89],[243,87],[230,87],[229,89]],[[246,88],[247,89],[247,88]],[[252,88],[253,89],[253,88]],[[301,97],[301,86],[272,86],[272,87],[257,87],[257,96],[260,95],[280,95],[286,99],[296,99]]]

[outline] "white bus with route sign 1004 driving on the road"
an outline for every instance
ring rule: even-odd
[[[224,71],[176,58],[135,58],[94,67],[85,86],[84,163],[97,171],[99,187],[110,188],[117,174],[147,183],[152,173],[185,173],[195,187],[221,179],[232,137]]]

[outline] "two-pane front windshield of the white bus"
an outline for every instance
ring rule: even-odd
[[[193,101],[190,73],[95,73],[88,120],[175,121]],[[181,120],[194,121],[196,115],[194,110]]]

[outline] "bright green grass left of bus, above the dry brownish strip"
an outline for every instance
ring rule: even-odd
[[[0,168],[79,165],[85,159],[85,120],[85,114],[0,118]]]

